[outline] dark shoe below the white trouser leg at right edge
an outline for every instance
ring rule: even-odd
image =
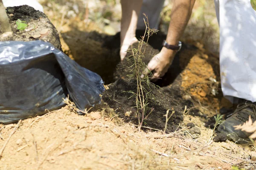
[[[251,116],[253,122],[256,120],[256,103],[241,103],[237,106],[234,113],[218,126],[218,131],[226,133],[228,138],[237,143],[249,141],[248,137],[252,133],[235,130],[234,127],[236,125],[244,124],[244,122],[248,121],[249,116]]]

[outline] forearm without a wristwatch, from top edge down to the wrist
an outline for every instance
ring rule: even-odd
[[[121,0],[121,45],[125,37],[135,37],[137,21],[142,2],[143,0]]]

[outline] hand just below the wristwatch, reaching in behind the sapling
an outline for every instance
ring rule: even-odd
[[[157,79],[161,78],[166,74],[168,68],[172,64],[172,60],[175,56],[176,52],[168,49],[163,49],[155,55],[150,62],[148,62],[148,68],[145,70],[145,74],[149,74],[148,70],[151,71],[153,77],[151,77],[152,81],[157,81]],[[144,77],[144,76],[142,76]]]

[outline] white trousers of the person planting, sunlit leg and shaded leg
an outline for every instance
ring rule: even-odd
[[[256,102],[256,11],[250,0],[214,1],[220,26],[223,95],[233,103],[239,98]],[[139,22],[144,12],[148,15],[149,26],[158,28],[163,3],[162,0],[143,0]],[[141,23],[138,26],[143,27]]]

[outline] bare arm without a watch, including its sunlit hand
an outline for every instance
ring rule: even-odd
[[[138,41],[135,37],[138,15],[142,6],[142,0],[121,0],[122,19],[121,19],[121,60],[125,58],[127,50],[132,42]]]

